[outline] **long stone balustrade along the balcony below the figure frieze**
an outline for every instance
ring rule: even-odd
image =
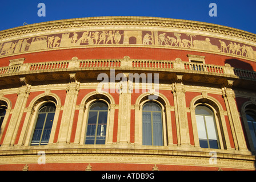
[[[126,64],[127,63],[127,64]],[[238,68],[232,68],[230,65],[219,66],[212,64],[203,63],[191,63],[186,61],[181,61],[177,59],[176,61],[167,60],[133,60],[133,59],[102,59],[102,60],[67,60],[67,61],[49,61],[43,63],[26,63],[20,65],[11,65],[9,67],[0,68],[0,75],[26,72],[33,73],[33,71],[43,71],[43,70],[59,70],[66,69],[66,71],[79,68],[152,68],[152,69],[162,69],[163,71],[177,70],[179,72],[186,71],[197,71],[201,74],[215,73],[221,75],[230,75],[232,77],[238,76],[243,79],[256,79],[256,72],[247,71]]]

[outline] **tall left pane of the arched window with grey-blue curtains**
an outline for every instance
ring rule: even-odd
[[[142,144],[152,145],[151,112],[142,113]]]

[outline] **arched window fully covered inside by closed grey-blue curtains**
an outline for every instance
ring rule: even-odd
[[[142,144],[163,145],[162,109],[154,102],[148,102],[142,109]]]

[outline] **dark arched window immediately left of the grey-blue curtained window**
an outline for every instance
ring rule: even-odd
[[[108,106],[95,102],[90,106],[85,144],[105,144]]]

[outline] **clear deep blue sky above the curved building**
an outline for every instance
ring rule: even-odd
[[[46,16],[39,17],[38,3]],[[217,17],[209,16],[210,3]],[[221,24],[256,34],[255,0],[13,0],[0,5],[0,30],[51,20],[91,16],[155,16]]]

